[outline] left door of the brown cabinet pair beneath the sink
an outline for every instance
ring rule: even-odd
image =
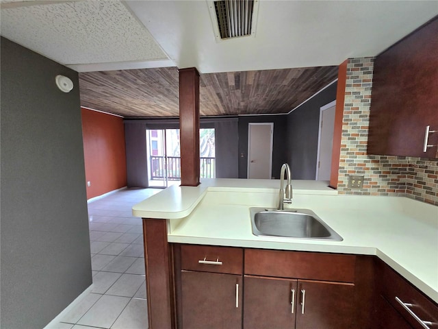
[[[244,328],[292,329],[296,280],[245,276]]]

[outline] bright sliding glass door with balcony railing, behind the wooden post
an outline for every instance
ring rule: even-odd
[[[165,187],[181,180],[179,129],[146,130],[150,186]],[[215,178],[214,128],[199,130],[201,178]]]

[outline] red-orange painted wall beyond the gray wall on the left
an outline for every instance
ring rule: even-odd
[[[127,185],[125,127],[114,115],[81,108],[87,199]]]

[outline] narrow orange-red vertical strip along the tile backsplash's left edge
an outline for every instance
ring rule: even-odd
[[[348,60],[345,60],[342,64],[340,64],[339,71],[337,73],[335,130],[333,131],[333,151],[331,154],[331,175],[329,185],[333,188],[337,188],[337,178],[339,176],[339,156],[341,155],[342,119],[344,119],[347,63]]]

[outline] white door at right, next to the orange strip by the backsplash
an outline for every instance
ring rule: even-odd
[[[316,180],[330,180],[333,130],[335,128],[336,101],[320,108],[320,133],[318,136],[318,161]]]

